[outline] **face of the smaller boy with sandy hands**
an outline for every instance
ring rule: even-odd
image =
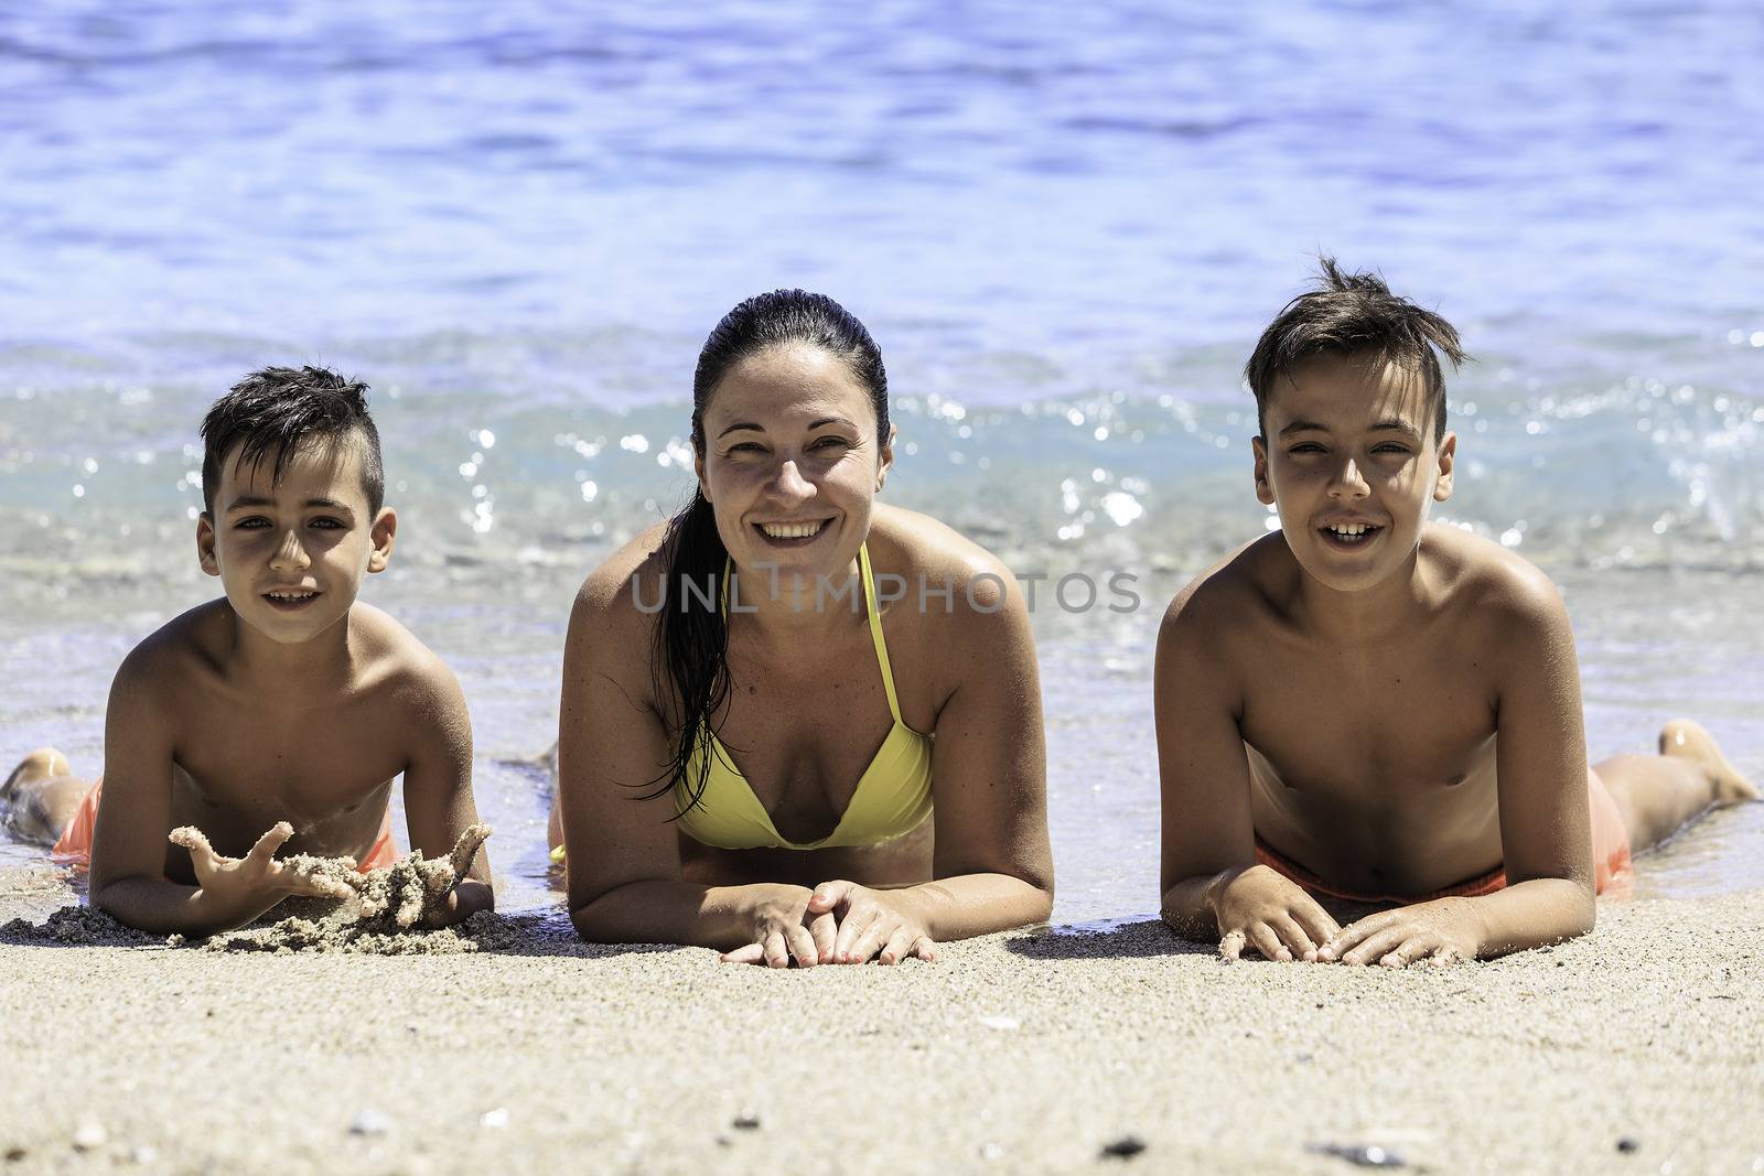
[[[312,640],[349,614],[362,577],[392,557],[397,517],[372,515],[355,435],[303,443],[275,481],[275,455],[220,462],[213,515],[196,527],[203,571],[238,617],[273,642]]]

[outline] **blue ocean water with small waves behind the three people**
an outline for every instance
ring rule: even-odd
[[[212,591],[201,409],[330,363],[404,520],[367,598],[459,668],[549,901],[570,594],[686,494],[709,326],[806,286],[882,342],[893,501],[1143,577],[1037,629],[1058,913],[1147,910],[1155,615],[1265,525],[1238,368],[1327,252],[1478,356],[1443,515],[1563,582],[1595,755],[1690,711],[1764,772],[1760,58],[1739,0],[7,5],[0,753],[95,770],[116,661]],[[1669,857],[1759,882],[1723,820]]]

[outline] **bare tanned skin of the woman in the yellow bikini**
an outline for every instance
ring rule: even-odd
[[[856,575],[954,584],[954,612],[916,594],[884,605],[901,716],[935,733],[935,816],[878,846],[716,850],[637,799],[672,760],[674,703],[656,696],[653,614],[662,529],[582,585],[564,649],[556,830],[570,913],[593,942],[713,947],[730,963],[799,966],[931,959],[935,943],[1044,920],[1053,901],[1041,691],[1028,610],[993,557],[942,524],[877,504],[893,460],[870,393],[834,356],[778,346],[737,361],[713,393],[699,480],[743,577],[716,716],[778,832],[829,834],[893,718],[863,612],[801,605],[789,585]],[[759,524],[818,520],[799,545]],[[783,591],[771,594],[778,568]],[[997,577],[997,578],[988,578]],[[1002,596],[998,585],[1004,585]],[[979,612],[967,605],[972,585]],[[933,829],[935,822],[935,829]]]

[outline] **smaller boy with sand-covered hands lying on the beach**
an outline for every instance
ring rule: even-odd
[[[446,855],[476,822],[459,682],[400,624],[356,601],[397,532],[365,391],[323,368],[272,367],[203,421],[196,548],[226,596],[123,659],[104,779],[56,843],[64,860],[90,853],[92,904],[131,926],[213,933],[295,894],[344,897],[340,883],[275,855],[286,846],[353,857],[362,869],[390,864],[386,800],[399,774],[411,846],[427,857]],[[72,792],[67,762],[51,751],[14,776],[18,795]],[[478,853],[441,920],[492,901]]]

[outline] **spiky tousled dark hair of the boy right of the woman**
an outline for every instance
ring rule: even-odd
[[[1438,353],[1438,354],[1436,354]],[[1316,289],[1298,294],[1268,323],[1244,365],[1256,395],[1256,428],[1268,434],[1268,397],[1281,376],[1319,354],[1364,354],[1379,367],[1397,365],[1420,376],[1432,413],[1434,443],[1445,437],[1445,376],[1439,356],[1457,370],[1469,356],[1457,330],[1432,310],[1390,293],[1376,273],[1342,273],[1321,257]]]

